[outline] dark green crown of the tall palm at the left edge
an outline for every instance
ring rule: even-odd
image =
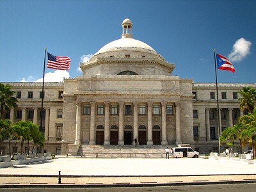
[[[16,108],[18,100],[12,97],[14,91],[10,84],[0,83],[0,118],[4,119],[4,113],[10,111],[10,108]]]

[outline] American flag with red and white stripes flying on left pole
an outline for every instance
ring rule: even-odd
[[[48,62],[47,68],[54,68],[60,70],[70,70],[71,60],[67,56],[54,56],[47,52]]]

